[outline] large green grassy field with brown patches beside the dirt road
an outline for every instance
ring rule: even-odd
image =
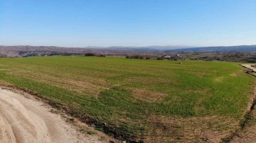
[[[252,96],[255,79],[242,69],[233,62],[28,57],[0,59],[0,80],[117,138],[219,142],[240,127]]]

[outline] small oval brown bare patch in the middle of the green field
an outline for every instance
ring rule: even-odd
[[[135,98],[138,98],[142,101],[147,101],[147,102],[161,101],[166,96],[166,94],[164,94],[164,93],[156,93],[156,92],[147,91],[144,89],[135,89],[132,92],[132,95]]]

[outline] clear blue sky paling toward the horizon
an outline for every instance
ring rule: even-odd
[[[0,0],[0,45],[255,45],[256,0]]]

